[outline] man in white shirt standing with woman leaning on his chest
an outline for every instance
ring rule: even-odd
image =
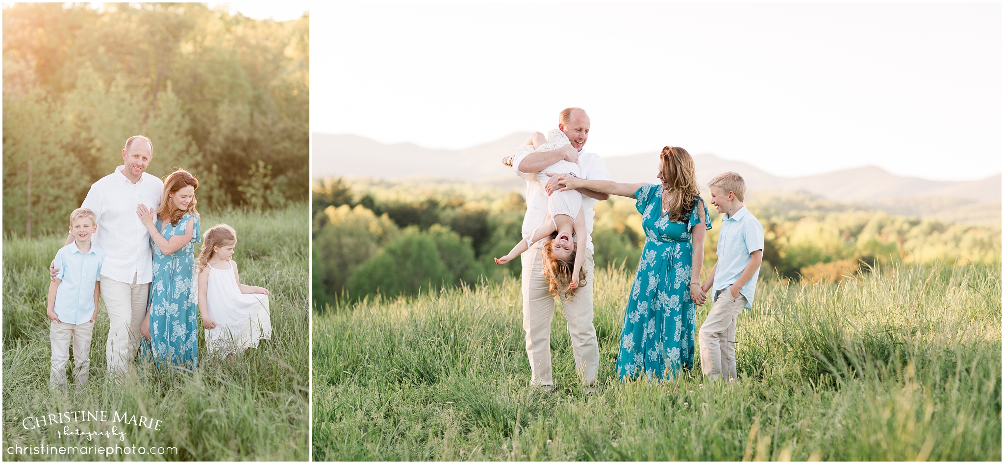
[[[121,375],[140,348],[140,323],[147,312],[150,284],[154,281],[154,255],[150,233],[136,210],[140,203],[157,209],[164,182],[147,173],[154,158],[149,138],[134,135],[122,148],[122,165],[90,185],[80,207],[97,215],[100,231],[94,245],[104,253],[101,266],[101,299],[108,312],[105,362],[108,372]],[[73,236],[66,239],[68,245]],[[53,271],[53,276],[59,270]]]

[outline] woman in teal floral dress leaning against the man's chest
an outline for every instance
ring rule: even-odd
[[[137,212],[150,230],[154,249],[154,282],[150,286],[147,317],[140,327],[143,354],[159,367],[199,366],[195,244],[202,242],[195,189],[199,181],[178,169],[164,181],[164,197],[154,211],[143,204]]]

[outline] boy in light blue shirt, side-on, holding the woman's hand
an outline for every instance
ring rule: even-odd
[[[701,370],[712,382],[736,375],[736,319],[750,308],[763,261],[763,225],[743,205],[746,181],[723,172],[708,182],[711,203],[726,215],[718,234],[718,263],[701,291],[714,289],[715,304],[701,326]],[[697,284],[694,284],[697,285]]]

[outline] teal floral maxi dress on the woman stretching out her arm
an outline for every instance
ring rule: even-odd
[[[701,223],[700,196],[686,221],[670,221],[663,210],[663,185],[650,183],[635,192],[642,213],[645,249],[638,265],[624,310],[617,354],[617,377],[623,381],[644,373],[653,378],[672,378],[681,367],[694,366],[694,330],[697,314],[690,298],[694,247],[691,227]],[[711,228],[708,206],[704,225]]]

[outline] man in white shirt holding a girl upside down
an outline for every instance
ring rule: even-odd
[[[528,239],[540,225],[547,213],[547,195],[558,188],[556,182],[541,184],[535,175],[560,159],[578,164],[583,178],[610,180],[606,163],[596,153],[582,151],[589,136],[589,116],[581,108],[565,108],[558,116],[558,129],[568,136],[570,145],[542,152],[517,152],[512,159],[512,167],[517,175],[526,179],[526,215],[523,217],[523,239]],[[556,177],[555,177],[556,178]],[[597,200],[607,199],[608,193],[600,193],[579,188],[582,194],[582,210],[585,213],[588,236],[576,238],[585,240],[585,286],[579,288],[571,301],[562,298],[561,308],[571,337],[575,370],[585,388],[585,393],[599,390],[596,371],[599,369],[599,347],[596,344],[596,329],[592,325],[592,207]],[[548,293],[544,282],[543,241],[520,256],[523,265],[523,330],[526,331],[526,354],[530,360],[530,385],[548,392],[554,391],[551,374],[551,320],[554,318],[554,298]]]

